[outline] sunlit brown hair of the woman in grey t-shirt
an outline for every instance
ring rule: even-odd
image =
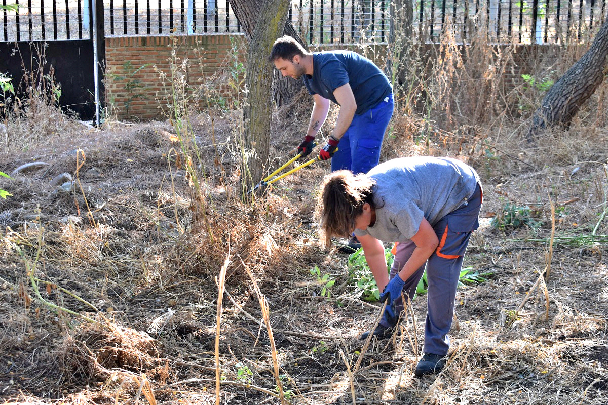
[[[363,213],[363,205],[376,208],[372,188],[375,180],[348,170],[335,171],[325,177],[317,200],[320,239],[331,245],[331,237],[348,237],[354,231],[354,220]]]

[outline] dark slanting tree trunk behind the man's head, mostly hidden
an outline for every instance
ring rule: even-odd
[[[263,10],[262,5],[264,0],[229,0],[235,15],[237,16],[238,22],[243,27],[243,32],[247,38],[247,41],[251,43],[251,39],[254,36],[254,30],[257,26],[258,17]],[[300,38],[291,22],[285,23],[285,29],[283,29],[283,35],[289,35],[295,38],[302,46],[306,49],[306,43]],[[283,78],[281,72],[273,69],[274,80],[272,81],[272,99],[277,106],[284,106],[291,101],[304,86],[302,79],[294,80],[292,78]]]

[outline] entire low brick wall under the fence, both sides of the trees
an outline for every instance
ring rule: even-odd
[[[176,50],[179,61],[184,58],[189,60],[187,67],[180,69],[185,81],[194,88],[207,86],[207,96],[202,94],[196,96],[201,107],[204,107],[209,92],[212,93],[212,97],[223,97],[224,101],[230,100],[231,89],[227,84],[230,66],[234,63],[235,55],[239,61],[244,61],[246,56],[246,39],[243,35],[176,36],[173,39],[168,36],[108,38],[106,39],[106,106],[119,119],[164,118],[159,106],[165,106],[168,102],[164,97],[167,95],[166,86],[170,90],[170,60],[173,49]],[[364,54],[379,66],[383,66],[386,58],[386,47],[383,45],[364,48],[344,45],[310,47],[313,52],[325,49],[351,49]],[[513,53],[513,66],[505,72],[505,86],[520,84],[523,73],[535,73],[537,64],[546,62],[547,58],[554,60],[559,55],[560,49],[559,46],[518,46]],[[427,54],[433,55],[434,52]],[[123,64],[128,62],[132,67],[125,69]],[[128,75],[128,70],[139,69],[145,64],[150,66],[130,75],[128,79],[120,80],[120,77]],[[161,72],[168,76],[165,81],[161,79]],[[140,80],[142,87],[136,87],[129,95],[129,83],[131,82],[133,86],[135,80]],[[142,97],[137,97],[138,95]]]

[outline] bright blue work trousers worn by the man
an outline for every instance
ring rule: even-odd
[[[354,174],[367,173],[378,165],[382,139],[394,106],[391,93],[369,111],[354,115],[331,158],[331,171],[347,169]]]

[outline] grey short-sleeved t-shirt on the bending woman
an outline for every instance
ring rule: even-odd
[[[467,202],[479,177],[475,169],[452,158],[404,157],[367,172],[373,186],[376,222],[355,236],[371,235],[383,242],[407,242],[423,217],[434,226]]]

